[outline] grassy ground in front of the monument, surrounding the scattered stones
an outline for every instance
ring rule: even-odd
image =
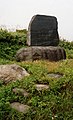
[[[3,61],[4,63],[4,61]],[[11,63],[6,61],[6,63]],[[7,86],[0,83],[0,119],[1,120],[72,120],[73,119],[73,60],[59,62],[34,61],[18,62],[30,76],[9,83]],[[49,73],[62,74],[55,79]],[[36,83],[48,84],[46,91],[37,91]],[[15,95],[14,87],[24,88],[30,97]],[[19,113],[10,108],[10,103],[18,101],[30,106],[27,114]]]

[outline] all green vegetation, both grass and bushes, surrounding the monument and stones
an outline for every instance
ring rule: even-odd
[[[0,64],[15,63],[16,51],[25,45],[26,34],[23,32],[0,30]],[[66,60],[16,62],[30,76],[8,85],[0,81],[0,120],[73,120],[73,43],[63,40],[60,46],[67,52]],[[49,73],[57,73],[62,77],[51,78]],[[47,84],[49,89],[37,91],[34,87],[36,83]],[[30,96],[26,98],[14,94],[12,89],[15,87],[26,89]],[[28,113],[12,109],[10,103],[14,101],[29,105]]]

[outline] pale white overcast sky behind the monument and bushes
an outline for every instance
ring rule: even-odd
[[[59,36],[73,41],[73,0],[0,0],[0,26],[28,29],[36,14],[57,17]]]

